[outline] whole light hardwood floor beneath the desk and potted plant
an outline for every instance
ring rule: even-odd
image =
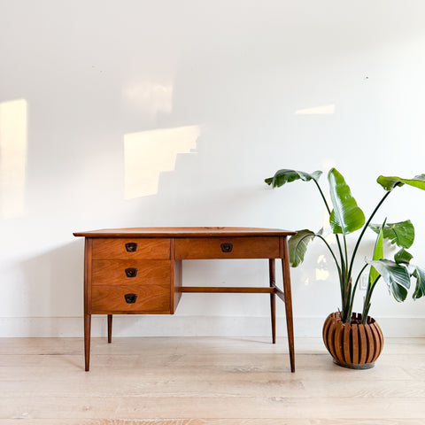
[[[375,368],[336,367],[319,339],[0,339],[0,425],[422,425],[425,339],[385,340]]]

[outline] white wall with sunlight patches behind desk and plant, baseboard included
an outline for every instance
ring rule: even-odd
[[[0,336],[82,335],[73,231],[317,229],[313,184],[264,178],[336,166],[367,213],[379,174],[423,173],[424,15],[421,0],[1,2]],[[308,108],[321,113],[297,113]],[[411,218],[425,266],[424,205],[397,189],[376,220]],[[328,254],[312,248],[292,273],[298,336],[320,336],[339,306]],[[190,261],[184,276],[267,284],[267,262]],[[387,335],[424,336],[424,303],[381,287],[371,313]],[[95,320],[94,335],[104,328]],[[176,316],[116,329],[268,336],[268,299],[186,294]]]

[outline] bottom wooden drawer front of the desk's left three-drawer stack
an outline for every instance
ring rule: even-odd
[[[169,313],[169,285],[92,287],[92,313]]]

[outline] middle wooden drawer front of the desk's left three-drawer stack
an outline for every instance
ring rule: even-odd
[[[95,259],[92,285],[170,285],[171,262],[162,260]]]

